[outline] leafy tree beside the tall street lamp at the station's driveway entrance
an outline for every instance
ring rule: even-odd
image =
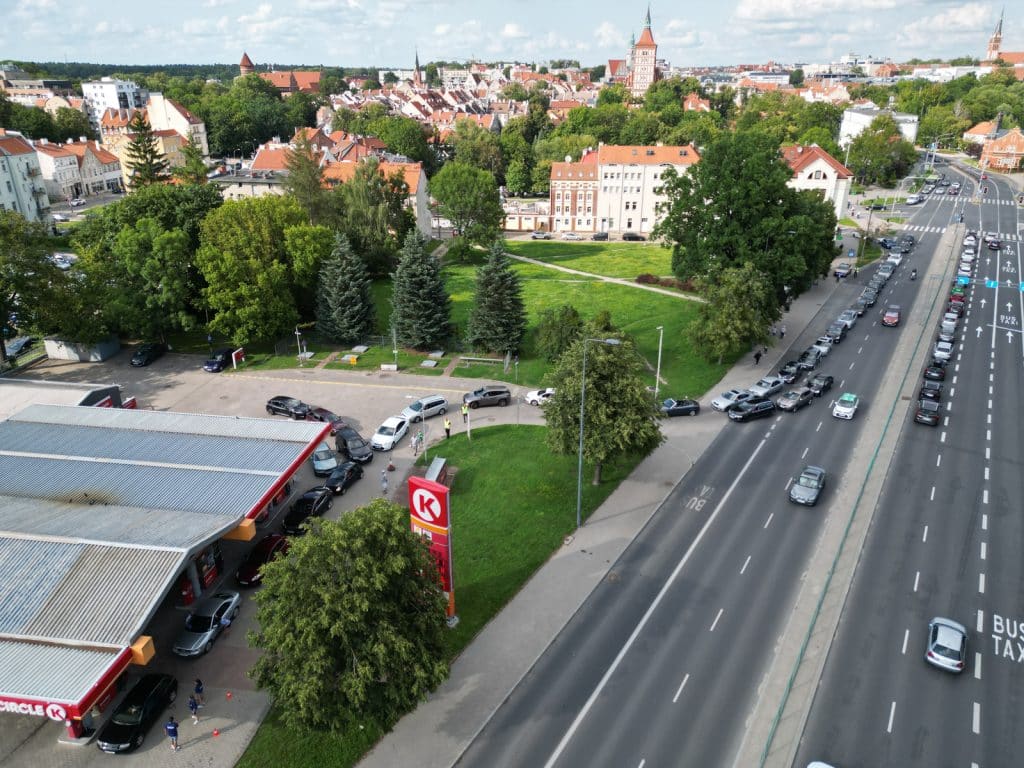
[[[588,329],[587,333],[590,330]],[[584,459],[594,465],[594,484],[602,466],[630,454],[647,454],[662,441],[654,400],[643,379],[643,359],[632,339],[617,333],[615,346],[580,339],[558,359],[549,378],[555,396],[545,408],[548,446],[577,454],[584,345],[587,346],[587,397],[584,406]]]

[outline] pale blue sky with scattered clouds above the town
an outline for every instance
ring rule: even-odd
[[[1004,48],[1024,50],[1010,3]],[[1014,7],[1017,7],[1016,17]],[[646,3],[622,0],[0,0],[0,60],[412,67],[420,61],[623,58]],[[999,6],[948,0],[650,3],[677,67],[827,62],[845,53],[983,56]]]

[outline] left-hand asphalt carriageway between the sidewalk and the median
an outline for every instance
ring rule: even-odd
[[[845,466],[854,441],[871,438],[861,434],[862,414],[834,419],[831,399],[853,391],[864,411],[891,404],[873,396],[907,329],[882,327],[881,313],[888,303],[909,308],[924,281],[906,275],[949,216],[948,204],[918,209],[914,254],[819,367],[835,389],[798,414],[723,430],[460,765],[731,764],[829,501],[865,471]],[[804,334],[786,337],[784,359],[852,303],[871,271],[839,286]],[[829,471],[810,509],[787,501],[807,463]]]

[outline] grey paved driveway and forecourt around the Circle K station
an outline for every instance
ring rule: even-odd
[[[453,434],[465,429],[459,414],[462,394],[481,386],[477,379],[459,380],[436,376],[423,377],[398,373],[354,373],[313,367],[266,372],[239,372],[224,374],[205,373],[202,356],[174,352],[145,368],[129,365],[131,349],[124,349],[112,359],[100,364],[74,364],[63,360],[46,360],[34,366],[20,376],[26,379],[121,385],[123,396],[135,396],[139,408],[159,411],[176,411],[220,416],[254,418],[268,417],[266,400],[285,394],[305,402],[319,406],[343,417],[368,440],[377,426],[388,416],[397,414],[414,399],[427,394],[441,394],[452,403],[449,418]],[[506,408],[485,408],[471,412],[471,425],[541,424],[541,410],[522,403],[526,387],[510,387],[516,402]],[[443,417],[429,419],[424,425],[429,455],[439,451],[443,443]],[[332,442],[333,447],[333,442]],[[388,465],[388,496],[396,502],[403,498],[403,480],[412,468],[415,457],[410,435],[398,443],[389,456],[377,454],[365,465],[366,475],[344,496],[335,497],[334,507],[326,517],[336,519],[346,510],[358,507],[381,494],[381,471]],[[292,487],[295,498],[303,490],[321,484],[306,463],[296,474]],[[230,489],[225,488],[225,495]],[[268,518],[258,526],[259,540],[268,532],[280,532],[282,518],[291,499],[279,505]],[[183,627],[185,610],[176,605],[178,595],[170,594],[146,630],[153,636],[157,655],[145,672],[166,672],[178,680],[178,698],[170,712],[181,722],[181,752],[168,749],[161,723],[162,716],[148,731],[142,746],[119,760],[126,765],[159,766],[165,762],[175,765],[233,765],[244,752],[259,722],[265,715],[269,701],[257,691],[246,675],[256,651],[248,647],[246,635],[253,629],[254,604],[249,599],[251,591],[240,589],[233,573],[254,542],[222,542],[224,574],[214,587],[243,592],[244,601],[239,617],[216,641],[213,649],[204,656],[184,659],[170,652],[171,644]],[[193,725],[187,711],[187,697],[193,680],[202,678],[206,685],[207,706],[201,710],[200,723]],[[110,709],[108,713],[110,713]],[[102,724],[103,717],[98,721]],[[216,735],[214,732],[216,731]],[[69,745],[59,743],[66,734],[65,727],[45,718],[0,714],[0,761],[5,768],[35,768],[36,766],[92,766],[109,765],[113,758],[100,753],[95,744]]]

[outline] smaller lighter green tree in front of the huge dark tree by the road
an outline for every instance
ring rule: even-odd
[[[698,280],[706,302],[689,328],[689,338],[700,355],[722,365],[726,355],[761,345],[768,328],[780,316],[771,281],[754,264],[728,267],[714,280]]]

